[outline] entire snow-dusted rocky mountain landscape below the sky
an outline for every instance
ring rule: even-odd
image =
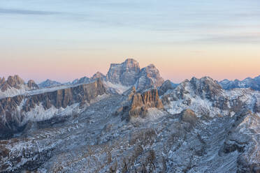
[[[134,59],[66,84],[0,77],[0,172],[260,172],[259,79],[174,84]]]

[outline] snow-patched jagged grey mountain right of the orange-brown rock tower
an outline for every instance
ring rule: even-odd
[[[241,110],[258,113],[260,93],[251,89],[226,91],[210,77],[193,77],[192,80],[185,80],[171,92],[165,93],[161,99],[171,114],[190,109],[203,116],[232,116]]]

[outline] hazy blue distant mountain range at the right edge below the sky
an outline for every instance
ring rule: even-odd
[[[223,89],[236,89],[236,88],[251,88],[256,91],[260,91],[260,76],[247,77],[245,80],[222,80],[219,82]]]

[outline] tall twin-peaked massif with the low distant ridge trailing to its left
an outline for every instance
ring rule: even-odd
[[[46,80],[39,84],[39,87],[45,88],[57,87],[60,85],[88,84],[99,78],[104,82],[108,82],[108,85],[120,84],[124,87],[135,86],[136,89],[157,88],[164,83],[164,79],[161,77],[159,70],[153,64],[150,64],[145,68],[140,68],[138,61],[126,59],[123,63],[111,63],[106,75],[97,72],[92,77],[85,76],[64,84]]]

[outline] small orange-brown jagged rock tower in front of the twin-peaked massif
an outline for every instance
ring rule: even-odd
[[[157,89],[151,89],[144,93],[135,93],[131,99],[131,108],[129,110],[129,117],[142,117],[147,114],[148,108],[156,107],[157,109],[164,109],[164,105],[158,95]]]

